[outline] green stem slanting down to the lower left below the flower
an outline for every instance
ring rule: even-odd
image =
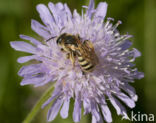
[[[41,109],[42,104],[51,96],[51,93],[53,91],[53,85],[48,88],[48,90],[42,95],[42,97],[39,99],[39,101],[35,104],[31,112],[28,114],[28,116],[25,118],[23,123],[31,123],[31,121],[34,119],[36,114]]]

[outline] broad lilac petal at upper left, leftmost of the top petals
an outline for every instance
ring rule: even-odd
[[[49,9],[44,4],[39,4],[36,7],[37,11],[40,14],[40,18],[42,19],[43,23],[48,27],[50,26],[53,29],[54,19],[49,11]]]

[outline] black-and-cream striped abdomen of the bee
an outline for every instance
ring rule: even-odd
[[[93,65],[90,61],[86,61],[83,57],[78,57],[78,62],[84,72],[91,72],[95,65]]]

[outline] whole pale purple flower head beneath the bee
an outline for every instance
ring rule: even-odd
[[[83,12],[85,9],[86,13]],[[81,15],[76,10],[71,13],[67,4],[51,2],[48,7],[44,4],[37,5],[37,11],[43,24],[32,20],[31,28],[43,38],[42,42],[20,35],[21,39],[28,40],[31,44],[13,41],[11,46],[15,50],[32,54],[20,57],[19,63],[38,61],[20,69],[18,74],[24,78],[21,85],[33,84],[37,87],[55,82],[54,92],[43,105],[44,107],[54,100],[48,111],[48,121],[54,120],[59,110],[62,118],[67,118],[71,98],[75,100],[74,122],[80,121],[82,107],[83,114],[92,114],[92,123],[101,123],[103,118],[106,122],[112,122],[107,102],[114,106],[118,115],[128,118],[126,109],[120,102],[130,108],[135,107],[137,95],[131,83],[134,79],[143,78],[144,74],[138,72],[133,62],[141,53],[130,48],[132,43],[128,39],[131,35],[120,35],[118,32],[120,21],[115,25],[111,23],[112,18],[104,21],[107,3],[100,2],[94,8],[94,0],[90,0],[88,7],[83,6]],[[82,40],[87,39],[93,43],[99,58],[99,64],[93,72],[83,75],[77,62],[73,69],[71,61],[57,46],[56,38],[45,41],[65,32],[79,34]]]

